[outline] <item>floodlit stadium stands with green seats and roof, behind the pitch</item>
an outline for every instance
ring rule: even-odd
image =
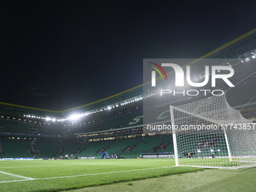
[[[205,63],[201,62],[202,59],[221,59],[219,66],[232,66],[236,73],[232,81],[238,88],[227,92],[227,101],[233,108],[242,108],[244,117],[256,120],[256,100],[252,99],[256,95],[256,74],[251,75],[256,69],[256,29],[188,63],[194,81],[203,78]],[[214,66],[216,63],[207,65]],[[169,72],[168,77],[174,78],[173,72]],[[140,153],[173,154],[171,134],[161,136],[142,132],[145,126],[143,101],[157,97],[160,102],[148,110],[160,111],[158,118],[152,117],[155,122],[168,122],[169,113],[163,114],[162,111],[168,110],[169,105],[182,105],[203,96],[163,99],[149,85],[142,84],[63,111],[0,102],[0,157],[59,157],[72,154],[99,158],[104,151],[123,158],[135,158]],[[218,86],[218,89],[227,90],[225,84],[218,83]],[[143,92],[143,89],[147,91]]]

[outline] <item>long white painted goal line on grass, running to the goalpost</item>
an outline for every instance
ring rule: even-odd
[[[134,169],[134,170],[126,170],[126,171],[119,171],[119,172],[136,172],[136,171],[144,171],[144,170],[150,170],[150,169],[165,169],[165,168],[172,168],[175,166],[163,166],[163,167],[154,167],[154,168],[146,168],[146,169]],[[1,171],[0,171],[1,172]],[[90,175],[105,175],[105,174],[112,174],[112,173],[119,173],[119,172],[98,172],[98,173],[90,173],[90,174],[84,174],[84,175],[70,175],[70,176],[61,176],[61,177],[52,177],[52,178],[27,178],[27,177],[23,177],[23,178],[27,178],[27,179],[23,179],[23,180],[14,180],[14,181],[0,181],[1,183],[11,183],[11,182],[18,182],[18,181],[35,181],[35,180],[47,180],[47,179],[55,179],[55,178],[75,178],[75,177],[83,177],[83,176],[90,176]],[[11,173],[8,173],[8,175]],[[12,174],[14,175],[14,174]]]

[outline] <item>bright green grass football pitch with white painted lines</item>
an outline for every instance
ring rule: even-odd
[[[256,169],[251,170],[253,170],[251,173],[252,176],[256,178],[256,174],[254,174],[254,172],[256,173]],[[184,173],[205,171],[209,171],[211,174],[211,171],[214,172],[216,169],[206,170],[195,167],[175,167],[175,161],[173,159],[6,160],[0,161],[0,191],[61,191],[104,184],[110,184],[105,185],[105,187],[110,187],[109,191],[113,191],[114,188],[111,188],[111,186],[114,187],[114,183],[123,181],[135,182],[136,180],[145,178],[166,178],[161,177],[166,175],[178,175],[181,180],[187,180],[185,178],[187,174]],[[241,171],[226,170],[225,172],[235,172],[237,174]],[[223,171],[221,175],[223,175]],[[206,175],[202,177],[201,179],[206,179]],[[237,177],[240,180],[242,179],[239,174]],[[245,177],[248,177],[248,175],[245,175]],[[140,182],[146,183],[147,180]],[[246,185],[248,189],[254,189],[254,182],[251,184],[251,187],[248,184]],[[142,185],[139,184],[139,186]],[[178,190],[178,188],[175,189]],[[181,185],[180,190],[182,189],[184,187]],[[106,191],[106,189],[104,190]],[[133,188],[133,190],[139,190],[139,188]],[[147,187],[145,190],[147,190]]]

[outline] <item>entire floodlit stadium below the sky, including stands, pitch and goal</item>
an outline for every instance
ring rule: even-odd
[[[235,87],[227,87],[221,79],[216,82],[223,96],[211,95],[211,92],[162,96],[145,81],[114,96],[62,111],[1,102],[0,190],[61,191],[86,187],[81,191],[92,191],[90,187],[98,185],[102,185],[99,190],[117,190],[122,183],[114,183],[124,181],[127,190],[139,190],[138,186],[145,190],[144,184],[160,182],[160,176],[170,175],[167,177],[172,178],[168,179],[182,182],[187,181],[187,174],[194,174],[190,177],[198,176],[201,181],[206,177],[204,174],[212,174],[216,177],[211,178],[212,183],[205,181],[210,186],[208,189],[218,190],[216,185],[219,185],[222,190],[234,187],[243,190],[241,187],[247,184],[248,191],[253,191],[255,57],[256,29],[253,29],[199,59],[184,63],[182,68],[190,66],[191,75],[198,77],[203,76],[205,62],[209,66],[231,67],[235,73],[230,81]],[[148,65],[147,59],[145,62]],[[167,72],[167,77],[174,79],[174,71]],[[197,80],[194,78],[194,81]],[[166,88],[166,81],[160,77],[157,85],[158,89],[173,88]],[[170,105],[173,106],[171,113]],[[248,133],[239,129],[236,129],[238,133],[180,131],[175,134],[174,142],[173,130],[155,128],[157,124],[169,126],[173,121],[187,125],[242,122],[245,129],[250,124],[250,130]],[[148,127],[154,129],[148,130]],[[239,169],[248,167],[251,169]],[[220,175],[223,182],[217,179]],[[161,179],[165,181],[167,177]],[[248,177],[254,178],[250,181]],[[187,182],[186,186],[173,182],[171,185],[179,190],[203,189],[203,184],[195,184],[193,178]],[[153,187],[153,190],[157,189]]]

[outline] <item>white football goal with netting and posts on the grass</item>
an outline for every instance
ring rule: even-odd
[[[176,166],[256,166],[256,127],[227,103],[211,96],[170,106]]]

